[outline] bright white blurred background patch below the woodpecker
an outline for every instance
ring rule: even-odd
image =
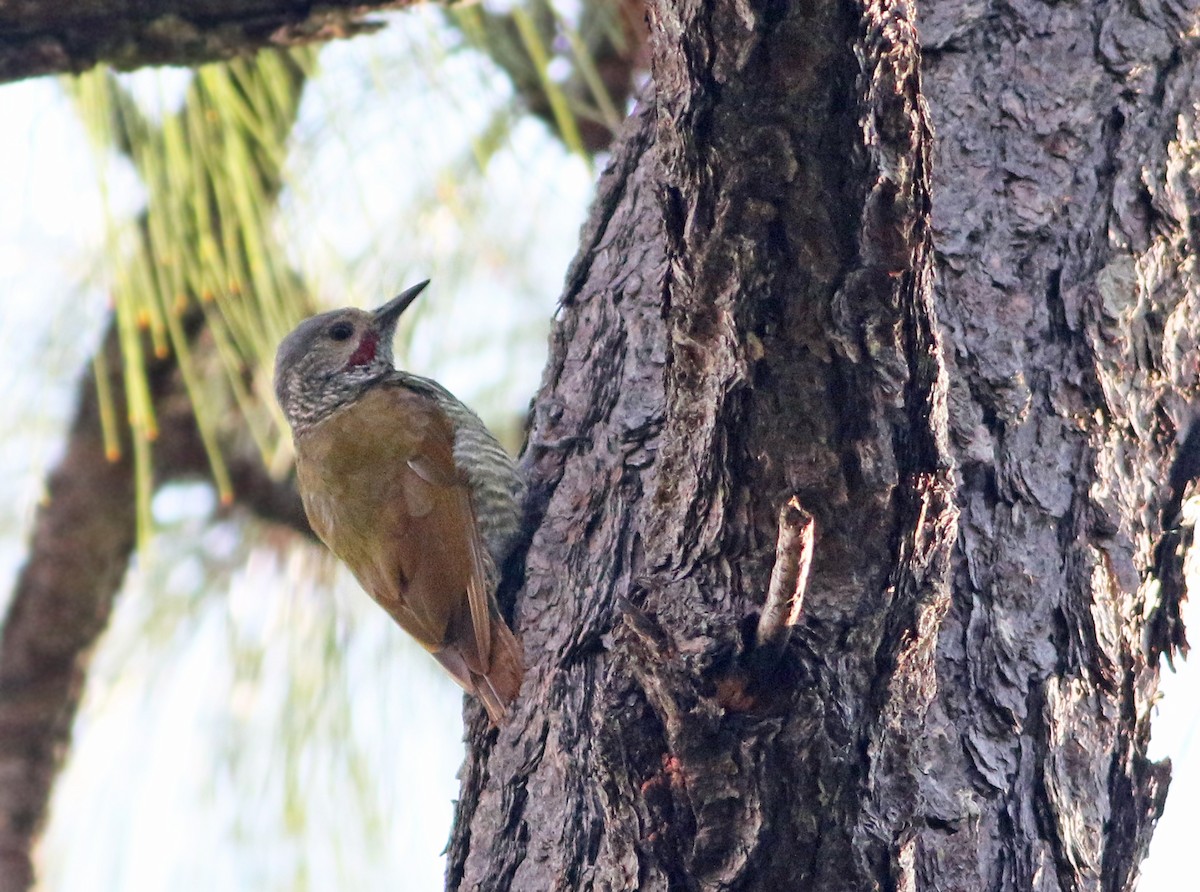
[[[46,886],[436,887],[457,689],[319,551],[212,502],[155,497],[158,557],[89,675]],[[96,827],[97,802],[118,818]]]

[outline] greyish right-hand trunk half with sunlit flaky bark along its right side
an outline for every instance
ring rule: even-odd
[[[961,533],[918,887],[1127,890],[1162,808],[1146,744],[1195,474],[1170,462],[1200,361],[1194,16],[922,7]]]

